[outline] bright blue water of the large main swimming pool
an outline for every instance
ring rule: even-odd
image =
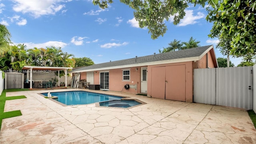
[[[42,93],[47,96],[48,93]],[[51,92],[52,96],[58,96],[54,98],[66,105],[77,105],[77,104],[92,104],[95,102],[104,102],[109,100],[120,100],[121,96],[110,96],[107,94],[97,94],[93,92],[84,91],[68,91],[68,92]]]

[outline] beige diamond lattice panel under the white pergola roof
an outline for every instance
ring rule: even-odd
[[[32,80],[49,81],[57,78],[54,70],[32,70]],[[30,71],[28,71],[28,79],[30,79]]]

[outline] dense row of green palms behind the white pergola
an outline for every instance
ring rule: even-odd
[[[9,46],[0,58],[0,70],[21,70],[23,66],[74,67],[73,54],[62,52],[61,47],[25,49],[26,45]]]

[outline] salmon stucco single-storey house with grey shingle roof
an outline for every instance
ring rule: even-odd
[[[210,45],[94,64],[71,73],[80,74],[80,80],[90,84],[99,84],[100,90],[193,102],[193,70],[217,67],[214,48]]]

